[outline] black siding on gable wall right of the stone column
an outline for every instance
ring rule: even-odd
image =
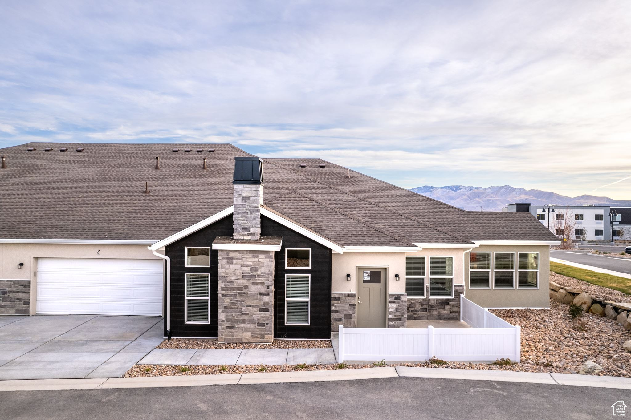
[[[330,339],[331,338],[331,250],[262,217],[261,235],[282,236],[283,245],[276,252],[274,269],[274,338]],[[286,269],[285,248],[310,248],[310,269]],[[310,274],[310,325],[285,325],[285,274]]]

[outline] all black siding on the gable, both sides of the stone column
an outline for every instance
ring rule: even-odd
[[[166,247],[171,260],[171,335],[172,337],[217,336],[217,262],[218,252],[210,252],[210,268],[186,267],[186,247],[211,247],[216,236],[232,236],[232,217],[206,226]],[[274,337],[289,339],[331,338],[331,250],[286,228],[280,223],[261,218],[262,236],[282,236],[280,252],[274,253]],[[285,269],[285,248],[310,248],[311,268]],[[210,273],[210,324],[184,323],[184,274]],[[310,325],[285,325],[285,274],[311,275]],[[166,325],[166,323],[165,323]],[[165,328],[166,334],[166,328]]]

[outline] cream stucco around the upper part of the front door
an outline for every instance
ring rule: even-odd
[[[356,291],[358,267],[385,267],[388,293],[405,292],[405,254],[403,252],[345,252],[333,254],[331,267],[331,291],[348,293]],[[351,275],[351,281],[346,280]],[[394,279],[399,274],[400,280]]]

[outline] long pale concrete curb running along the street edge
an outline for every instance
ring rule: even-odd
[[[45,390],[100,390],[114,388],[202,387],[206,385],[249,385],[346,381],[377,378],[441,378],[497,382],[544,383],[631,389],[631,378],[618,376],[572,375],[570,373],[513,372],[447,368],[386,366],[383,368],[316,370],[227,375],[146,376],[141,378],[0,380],[0,392]]]

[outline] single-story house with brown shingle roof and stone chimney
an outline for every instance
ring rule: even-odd
[[[0,149],[0,313],[163,315],[169,337],[323,339],[548,306],[529,213],[464,211],[232,144]]]

